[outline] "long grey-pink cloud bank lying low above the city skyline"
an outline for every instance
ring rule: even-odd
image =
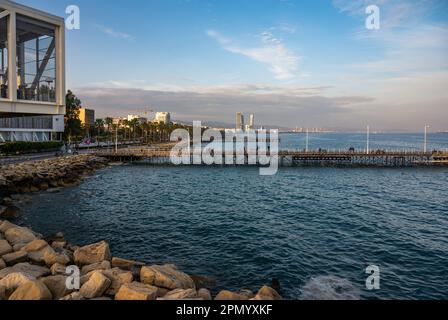
[[[346,116],[358,104],[373,99],[363,96],[327,97],[327,87],[277,87],[239,85],[198,87],[181,91],[132,88],[76,88],[83,103],[97,116],[124,116],[142,106],[170,111],[178,121],[216,121],[232,124],[236,112],[255,113],[258,124],[280,127],[348,125]],[[345,120],[344,120],[345,119]]]

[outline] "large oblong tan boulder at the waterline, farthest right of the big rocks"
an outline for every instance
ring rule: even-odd
[[[140,281],[171,290],[195,288],[190,276],[179,271],[174,265],[142,267]]]

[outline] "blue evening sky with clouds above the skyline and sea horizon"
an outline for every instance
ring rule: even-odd
[[[446,0],[21,0],[59,16],[67,88],[97,117],[448,130]],[[368,30],[366,8],[380,9]]]

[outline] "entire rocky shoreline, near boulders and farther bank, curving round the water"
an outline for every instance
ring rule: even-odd
[[[79,185],[111,165],[91,155],[36,160],[0,169],[0,300],[281,300],[262,286],[258,292],[221,290],[212,296],[210,279],[187,275],[175,265],[146,265],[113,257],[101,241],[78,247],[63,233],[44,237],[11,223],[14,203],[27,195]],[[80,287],[70,289],[67,267],[80,271]]]

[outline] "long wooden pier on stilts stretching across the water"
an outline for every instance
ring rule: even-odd
[[[106,150],[94,153],[106,157],[111,161],[147,163],[169,165],[171,164],[171,147],[143,147],[120,149],[117,152]],[[193,159],[193,152],[190,159]],[[200,155],[200,154],[198,154]],[[249,164],[249,158],[256,153],[227,153],[225,158],[244,159]],[[269,154],[268,154],[269,156]],[[191,161],[193,163],[193,161]],[[278,153],[279,166],[335,166],[335,167],[416,167],[416,166],[448,166],[448,151],[296,151],[283,150]],[[242,164],[241,164],[242,165]],[[253,164],[252,165],[257,165]]]

